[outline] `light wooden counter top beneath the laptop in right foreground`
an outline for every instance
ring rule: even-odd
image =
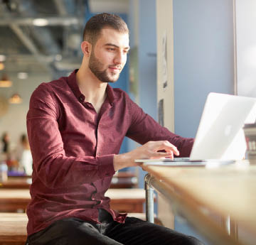
[[[218,214],[223,219],[230,217],[241,231],[240,236],[235,234],[235,239],[242,241],[242,244],[255,244],[256,165],[244,161],[220,168],[145,164],[143,168],[160,180],[160,185],[173,193],[173,198],[179,199],[181,205],[202,214],[195,221],[202,222],[202,229],[203,222],[210,221],[207,219],[210,213]]]

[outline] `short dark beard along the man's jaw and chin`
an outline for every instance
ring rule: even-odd
[[[97,77],[101,82],[116,82],[118,80],[119,74],[115,77],[110,77],[107,75],[107,69],[101,70],[102,67],[102,62],[95,57],[94,51],[92,50],[89,60],[89,68],[95,77]]]

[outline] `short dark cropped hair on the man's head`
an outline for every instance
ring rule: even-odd
[[[94,45],[100,36],[103,28],[110,27],[120,33],[129,33],[129,28],[124,20],[112,13],[99,13],[87,21],[84,31],[83,40]]]

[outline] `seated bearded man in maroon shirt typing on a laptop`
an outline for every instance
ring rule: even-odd
[[[41,84],[31,96],[28,244],[201,244],[110,209],[105,192],[115,171],[136,166],[137,158],[188,156],[193,139],[172,134],[108,85],[127,60],[129,30],[122,18],[90,18],[81,49],[79,70]],[[142,146],[118,154],[124,136]]]

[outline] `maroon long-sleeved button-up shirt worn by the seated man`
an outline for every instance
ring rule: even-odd
[[[193,139],[160,126],[121,89],[107,85],[107,99],[97,114],[85,102],[75,73],[41,84],[31,96],[27,129],[33,182],[28,235],[68,217],[98,222],[98,208],[124,222],[126,214],[110,209],[110,198],[105,197],[114,175],[113,157],[124,136],[141,144],[168,140],[180,156],[191,152]]]

